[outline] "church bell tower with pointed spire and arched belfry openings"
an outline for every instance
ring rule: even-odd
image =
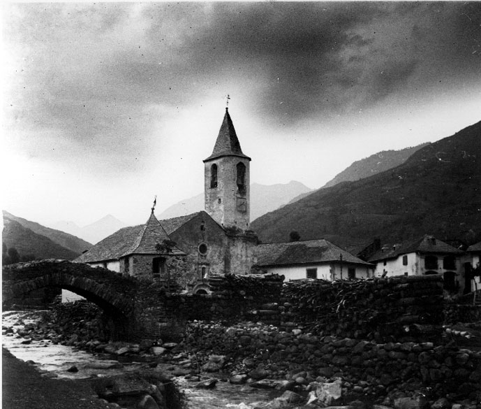
[[[251,158],[242,153],[228,108],[212,155],[203,162],[205,211],[223,227],[248,230]]]

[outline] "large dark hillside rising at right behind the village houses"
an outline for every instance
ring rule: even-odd
[[[319,189],[254,221],[260,239],[327,238],[401,241],[422,234],[441,240],[481,239],[481,122],[417,150],[396,168]]]

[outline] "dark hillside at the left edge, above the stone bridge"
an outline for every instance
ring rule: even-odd
[[[54,243],[50,238],[36,234],[5,215],[3,215],[2,241],[8,248],[15,247],[21,256],[31,254],[36,259],[73,260],[79,255]]]

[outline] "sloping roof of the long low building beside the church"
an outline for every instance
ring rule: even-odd
[[[293,264],[330,263],[371,266],[323,238],[318,240],[260,244],[254,250],[256,266],[288,266]],[[342,259],[341,259],[342,257]]]

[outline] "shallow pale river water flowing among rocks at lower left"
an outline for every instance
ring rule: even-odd
[[[32,340],[23,344],[24,338],[17,338],[16,330],[23,327],[17,324],[35,322],[31,312],[9,311],[2,313],[2,327],[13,327],[15,333],[2,336],[2,345],[15,357],[24,361],[34,361],[38,370],[50,373],[58,378],[82,379],[92,375],[99,377],[117,375],[126,371],[135,371],[144,366],[142,362],[121,362],[96,356],[82,350],[75,350],[66,345],[55,345],[50,340]],[[163,364],[165,367],[172,366]],[[68,368],[76,366],[78,372],[68,372]],[[113,367],[112,367],[113,366]],[[162,368],[161,368],[162,369]],[[215,375],[214,375],[215,377]],[[195,383],[184,377],[177,377],[179,386],[184,389],[188,399],[188,407],[192,409],[234,408],[251,409],[254,402],[271,400],[272,392],[265,389],[254,389],[248,385],[231,385],[229,382],[218,382],[214,389],[196,389]]]

